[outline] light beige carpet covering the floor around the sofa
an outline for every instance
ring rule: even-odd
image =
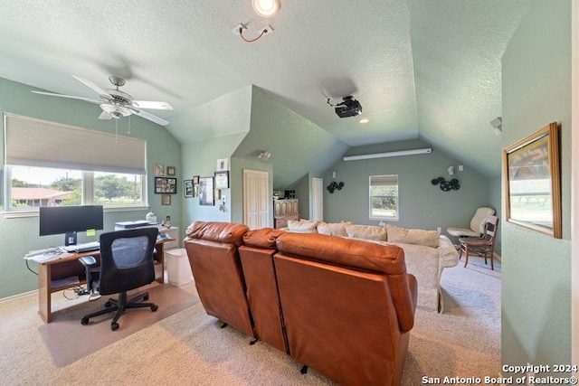
[[[422,376],[498,375],[500,370],[500,272],[475,263],[446,268],[442,287],[444,314],[416,312],[403,385],[421,384]],[[180,288],[195,296],[193,284]],[[37,307],[35,296],[0,302],[4,384],[332,384],[312,369],[300,374],[300,363],[268,344],[250,345],[244,334],[220,328],[200,303],[58,368],[37,331],[43,325]]]

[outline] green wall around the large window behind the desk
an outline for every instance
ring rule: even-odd
[[[26,117],[39,118],[59,122],[75,127],[99,130],[108,133],[115,132],[114,120],[99,120],[100,108],[90,103],[74,100],[50,98],[33,94],[33,88],[11,80],[0,79],[0,109],[3,112],[18,114]],[[119,122],[119,134],[127,135],[128,119]],[[50,133],[46,133],[50,136]],[[4,125],[2,126],[4,137]],[[182,174],[181,174],[181,145],[171,136],[165,127],[160,127],[138,117],[131,118],[131,137],[147,140],[147,168],[152,165],[163,164],[176,166],[177,194],[172,198],[171,205],[161,205],[160,194],[155,194],[152,175],[147,178],[147,194],[150,209],[138,211],[105,212],[104,231],[113,231],[117,221],[132,221],[145,219],[149,211],[157,213],[157,218],[171,216],[173,223],[181,222]],[[2,141],[4,144],[4,141]],[[66,144],[62,144],[66,146]],[[4,212],[4,145],[0,145],[0,171],[2,186],[0,193],[0,212]],[[97,235],[100,232],[97,233]],[[86,238],[79,235],[79,242],[96,240],[96,237]],[[26,268],[23,256],[31,249],[43,249],[53,245],[61,245],[63,236],[38,236],[38,216],[5,218],[0,214],[0,298],[32,291],[38,288],[37,277]],[[35,263],[31,268],[37,271]]]

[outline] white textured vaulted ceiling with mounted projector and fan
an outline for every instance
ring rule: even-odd
[[[179,122],[254,84],[350,146],[421,137],[498,175],[500,58],[530,0],[281,0],[271,19],[249,0],[4,3],[0,77],[94,98],[71,75],[101,88],[116,75],[135,99],[170,102],[151,112]],[[248,37],[274,31],[242,42],[239,23]],[[350,94],[368,124],[327,106]],[[207,125],[166,128],[183,142],[211,136]]]

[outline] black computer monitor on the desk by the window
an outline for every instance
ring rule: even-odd
[[[41,206],[40,235],[64,233],[64,245],[76,244],[76,232],[102,229],[102,205]]]

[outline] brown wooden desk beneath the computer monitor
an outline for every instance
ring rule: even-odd
[[[165,282],[165,243],[175,241],[174,239],[157,240],[155,248],[155,266],[160,266],[161,274],[155,280],[161,284]],[[73,253],[62,259],[54,259],[39,263],[38,268],[38,314],[43,318],[45,323],[52,322],[52,293],[62,291],[62,289],[78,287],[86,283],[85,280],[79,280],[74,273],[68,278],[54,278],[54,271],[59,268],[64,268],[65,271],[78,271],[82,276],[84,274],[84,267],[77,260],[81,256],[99,256],[99,250],[90,252]],[[77,267],[78,264],[78,267]],[[157,272],[157,269],[156,269]]]

